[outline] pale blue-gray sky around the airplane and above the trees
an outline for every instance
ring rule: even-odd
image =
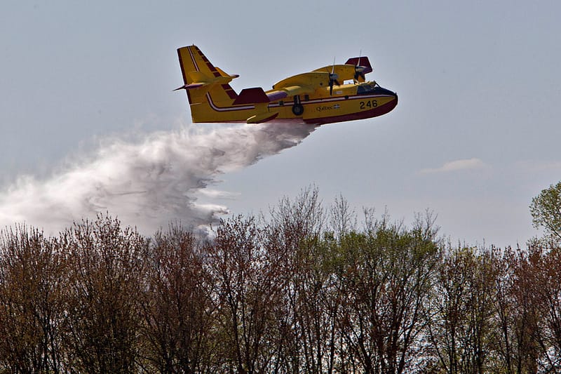
[[[430,208],[452,241],[505,246],[537,234],[532,196],[561,179],[561,3],[191,2],[3,2],[4,196],[15,199],[6,191],[21,175],[48,180],[100,139],[187,126],[187,99],[171,92],[181,46],[240,74],[238,92],[362,51],[368,77],[398,92],[393,112],[323,126],[219,175],[212,188],[232,194],[203,199],[257,213],[316,184],[326,203],[343,194],[357,211],[387,206],[406,223]]]

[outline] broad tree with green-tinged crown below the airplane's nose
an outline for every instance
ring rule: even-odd
[[[426,230],[408,231],[386,218],[371,222],[341,243],[342,333],[359,372],[403,373],[424,328],[438,246]]]

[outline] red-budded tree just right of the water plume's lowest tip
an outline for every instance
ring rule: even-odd
[[[224,367],[219,371],[265,373],[273,359],[279,267],[262,246],[262,229],[241,216],[222,222],[207,252],[217,285],[217,324],[222,330]]]

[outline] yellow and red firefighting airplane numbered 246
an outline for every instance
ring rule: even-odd
[[[372,72],[367,57],[349,59],[278,81],[273,89],[245,88],[237,94],[229,75],[196,46],[177,50],[193,122],[293,121],[322,125],[381,116],[398,105],[398,95],[365,81]],[[348,81],[349,83],[346,83]]]

